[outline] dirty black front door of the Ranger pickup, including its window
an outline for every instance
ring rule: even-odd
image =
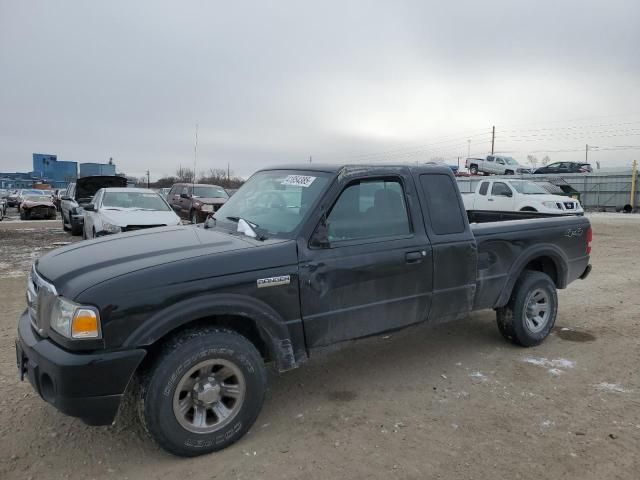
[[[408,170],[338,181],[326,222],[300,248],[309,347],[410,325],[429,311],[431,247]],[[326,242],[318,246],[322,231]]]

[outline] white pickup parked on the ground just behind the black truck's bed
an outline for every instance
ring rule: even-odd
[[[552,195],[529,180],[484,180],[475,192],[463,193],[465,209],[502,212],[541,212],[582,214],[580,202],[562,195]]]

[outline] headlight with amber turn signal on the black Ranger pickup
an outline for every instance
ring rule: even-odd
[[[91,307],[83,307],[58,297],[51,309],[51,328],[67,338],[100,338],[100,317]]]

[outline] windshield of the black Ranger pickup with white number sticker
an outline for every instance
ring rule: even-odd
[[[329,181],[324,172],[267,170],[253,175],[215,213],[217,226],[235,231],[239,219],[261,235],[289,238]]]

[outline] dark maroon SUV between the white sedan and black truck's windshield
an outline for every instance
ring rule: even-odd
[[[211,213],[217,212],[229,199],[224,188],[218,185],[176,183],[167,194],[167,201],[180,218],[191,223],[202,223]]]

